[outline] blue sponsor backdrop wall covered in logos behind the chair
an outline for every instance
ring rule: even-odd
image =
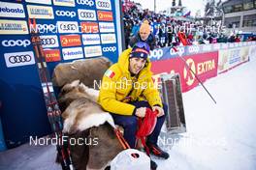
[[[50,131],[28,19],[36,19],[51,73],[59,63],[91,57],[116,62],[118,6],[114,0],[0,0],[0,116],[8,148]]]

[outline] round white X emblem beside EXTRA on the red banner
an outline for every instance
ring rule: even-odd
[[[187,66],[196,73],[196,65],[194,60],[192,60],[191,58],[186,60],[186,64]],[[186,66],[184,66],[183,69],[183,76],[184,76],[184,80],[186,82],[187,85],[191,86],[194,81],[195,81],[195,75],[194,73],[192,73]]]

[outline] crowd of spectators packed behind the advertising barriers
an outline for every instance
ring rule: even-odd
[[[138,5],[138,6],[137,6]],[[144,20],[150,25],[149,38],[155,47],[186,44],[207,44],[216,42],[256,41],[256,37],[241,40],[239,34],[225,35],[224,30],[213,25],[207,26],[189,19],[176,19],[165,14],[156,14],[148,10],[140,10],[135,4],[124,12],[125,45],[134,43],[140,37],[140,27]],[[182,33],[182,34],[181,34]],[[148,39],[149,39],[148,38]],[[183,39],[183,40],[182,40]]]

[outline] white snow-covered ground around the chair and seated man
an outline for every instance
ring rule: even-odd
[[[161,134],[167,160],[154,160],[158,170],[256,169],[256,56],[240,67],[209,79],[183,94],[187,132]],[[174,142],[176,141],[176,142]],[[164,145],[165,144],[165,145]],[[0,169],[57,170],[55,147],[28,144],[0,153]]]

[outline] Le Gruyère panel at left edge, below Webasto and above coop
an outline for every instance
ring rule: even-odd
[[[28,34],[27,23],[24,20],[0,20],[1,34]]]

